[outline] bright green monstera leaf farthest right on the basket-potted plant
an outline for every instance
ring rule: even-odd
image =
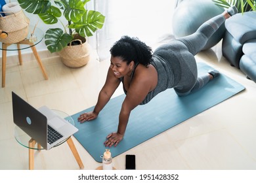
[[[75,32],[85,37],[90,37],[97,29],[101,29],[105,21],[105,16],[94,10],[86,10],[81,20],[69,25],[69,28],[75,29]]]

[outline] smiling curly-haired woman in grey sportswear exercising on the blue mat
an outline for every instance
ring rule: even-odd
[[[236,7],[230,7],[223,14],[202,24],[196,33],[163,44],[153,54],[151,48],[139,39],[122,37],[110,49],[110,68],[94,110],[81,114],[79,122],[97,118],[122,82],[126,96],[119,113],[117,131],[110,133],[104,142],[105,146],[117,146],[125,135],[133,108],[148,103],[167,88],[174,88],[179,96],[202,88],[209,80],[218,76],[219,72],[209,71],[198,77],[194,56],[202,50],[209,37],[226,18],[237,12]]]

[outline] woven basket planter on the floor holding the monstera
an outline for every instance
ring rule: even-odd
[[[74,41],[79,41],[81,44],[72,46],[72,42]],[[89,44],[86,41],[82,43],[81,39],[74,39],[72,42],[58,52],[58,55],[64,65],[72,68],[82,67],[90,59]]]

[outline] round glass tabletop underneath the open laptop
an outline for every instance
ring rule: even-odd
[[[75,125],[75,122],[73,120],[73,118],[66,114],[65,112],[62,112],[60,110],[55,110],[53,109],[53,111],[58,114],[60,117],[64,118],[66,121],[68,121],[70,124]],[[26,134],[22,129],[20,129],[20,127],[18,127],[17,125],[14,127],[14,137],[16,139],[16,141],[21,144],[22,146],[26,147],[26,148],[30,148],[28,146],[28,142],[32,139],[28,134]],[[60,144],[63,144],[64,142],[66,142],[68,139],[58,143],[56,146],[59,146]],[[43,147],[38,147],[35,146],[35,148],[33,148],[35,150],[43,150]]]

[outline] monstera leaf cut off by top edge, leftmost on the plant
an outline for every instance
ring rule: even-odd
[[[51,0],[18,0],[18,3],[26,12],[33,14],[44,13],[51,7]]]

